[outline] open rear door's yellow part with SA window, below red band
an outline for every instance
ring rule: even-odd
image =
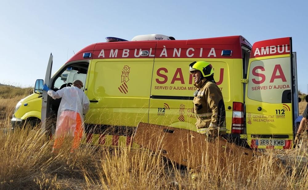
[[[261,70],[256,71],[257,69],[254,70],[254,68],[261,68]],[[247,143],[253,148],[282,149],[286,146],[291,148],[293,142],[292,103],[282,103],[281,99],[283,91],[291,88],[291,85],[287,86],[287,83],[291,81],[290,54],[250,59],[248,71],[249,82],[245,100]],[[256,73],[253,74],[253,72],[262,75],[255,77]],[[276,75],[278,79],[272,79]],[[282,82],[284,79],[285,84]],[[255,80],[257,85],[252,80]],[[283,138],[278,138],[279,136]],[[266,141],[269,140],[275,140],[277,144],[273,146],[260,144],[262,141],[268,144]],[[285,141],[284,146],[279,146],[281,141]]]

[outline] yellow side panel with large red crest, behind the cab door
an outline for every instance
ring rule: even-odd
[[[86,122],[137,126],[148,122],[151,73],[154,59],[93,59],[87,96]]]

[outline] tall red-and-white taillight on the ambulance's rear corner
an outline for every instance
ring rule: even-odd
[[[244,130],[244,104],[233,102],[231,133],[241,134]]]

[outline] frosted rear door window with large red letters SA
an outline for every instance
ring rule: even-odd
[[[256,60],[250,63],[248,98],[282,103],[290,91],[290,57]]]

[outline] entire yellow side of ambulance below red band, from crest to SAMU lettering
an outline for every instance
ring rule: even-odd
[[[233,101],[243,103],[242,76],[230,75],[242,71],[242,60],[200,60],[208,61],[216,69],[214,78],[223,92],[226,109],[233,106]],[[192,97],[197,88],[188,72],[188,65],[193,61],[187,58],[158,58],[155,62],[148,58],[93,59],[85,92],[90,101],[97,102],[90,104],[85,122],[129,127],[145,122],[196,131]],[[167,99],[156,99],[156,96],[167,96]],[[190,99],[168,99],[168,96]],[[227,132],[230,132],[232,109],[226,110],[226,116]]]

